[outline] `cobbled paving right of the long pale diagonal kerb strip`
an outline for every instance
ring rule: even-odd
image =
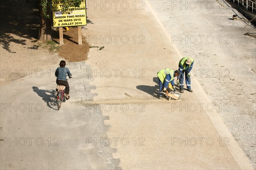
[[[255,26],[231,20],[243,17],[222,0],[149,3],[181,55],[195,59],[194,77],[256,168],[256,39],[244,35]]]

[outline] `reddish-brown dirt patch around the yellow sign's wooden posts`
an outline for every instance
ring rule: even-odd
[[[58,29],[54,29],[54,33],[52,40],[59,43]],[[90,45],[84,36],[82,36],[82,44],[78,45],[78,31],[76,26],[69,27],[68,31],[63,31],[63,38],[64,45],[61,45],[57,50],[59,56],[70,62],[87,60]]]

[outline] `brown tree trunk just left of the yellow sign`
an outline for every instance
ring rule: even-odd
[[[52,40],[51,8],[50,5],[47,5],[47,15],[49,17],[45,17],[42,10],[41,0],[39,0],[38,3],[40,13],[40,28],[38,39],[41,41],[50,41]]]

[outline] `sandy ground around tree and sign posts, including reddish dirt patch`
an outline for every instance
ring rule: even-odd
[[[52,29],[52,42],[38,41],[37,15],[24,19],[1,18],[0,25],[0,86],[34,74],[59,63],[87,60],[89,45],[83,37],[78,45],[77,27],[64,31],[64,45],[59,46],[58,29]]]

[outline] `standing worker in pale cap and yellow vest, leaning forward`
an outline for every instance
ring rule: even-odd
[[[180,78],[177,80],[177,84],[179,84],[180,93],[184,92],[184,74],[185,74],[185,82],[187,86],[187,90],[189,92],[193,92],[191,89],[191,79],[190,79],[190,71],[193,68],[194,60],[191,57],[184,57],[179,62],[179,71]]]

